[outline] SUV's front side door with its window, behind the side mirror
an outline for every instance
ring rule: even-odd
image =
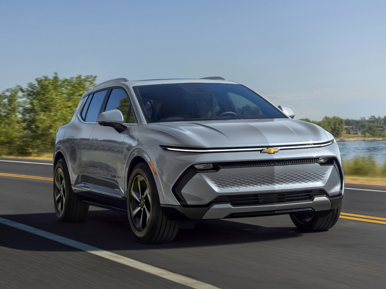
[[[129,97],[122,87],[113,87],[103,111],[119,109],[124,116],[124,123],[133,119]],[[96,124],[90,135],[90,177],[93,190],[107,195],[124,195],[124,149],[125,132]]]

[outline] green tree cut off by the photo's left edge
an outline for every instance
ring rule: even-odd
[[[23,133],[20,89],[20,86],[15,86],[0,93],[0,155],[15,153]]]

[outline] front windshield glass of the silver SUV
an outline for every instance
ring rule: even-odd
[[[133,87],[153,122],[286,118],[241,84],[179,83]]]

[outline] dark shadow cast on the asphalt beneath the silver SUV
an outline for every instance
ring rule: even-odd
[[[55,213],[2,215],[0,217],[103,250],[172,249],[242,244],[296,238],[303,234],[295,227],[263,227],[229,220],[207,220],[196,224],[194,229],[179,229],[176,238],[169,244],[140,244],[135,241],[130,231],[127,215],[111,210],[90,210],[84,222],[74,223],[59,221]],[[8,226],[4,227],[7,230]],[[13,238],[14,233],[12,232],[15,230],[9,229],[9,234],[6,232],[2,234],[0,246],[21,250],[47,250],[41,244],[31,244],[28,237],[25,237],[25,245],[20,240],[12,242],[10,239]],[[69,250],[76,249],[69,248]]]

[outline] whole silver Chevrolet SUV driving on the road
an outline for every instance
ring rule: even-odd
[[[334,137],[222,77],[102,82],[83,94],[54,148],[54,205],[127,212],[139,242],[171,242],[198,220],[289,214],[301,230],[339,218]]]

